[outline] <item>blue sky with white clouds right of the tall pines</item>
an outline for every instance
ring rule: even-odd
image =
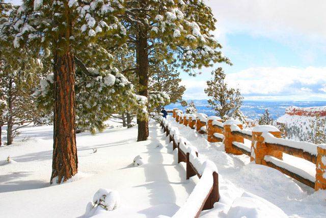
[[[191,78],[184,99],[207,99],[210,72],[222,66],[245,100],[326,101],[326,1],[205,0],[215,37],[233,66],[215,64]]]

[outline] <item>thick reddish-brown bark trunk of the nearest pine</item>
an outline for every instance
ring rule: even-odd
[[[61,183],[78,171],[75,126],[75,62],[71,52],[54,56],[54,130],[51,184]]]

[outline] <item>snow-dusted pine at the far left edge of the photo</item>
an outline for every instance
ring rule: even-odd
[[[15,49],[13,41],[21,18],[17,7],[0,2],[0,98],[6,102],[1,117],[7,124],[7,145],[12,144],[18,129],[32,122],[37,115],[32,95],[36,72],[41,66],[39,53],[24,44]]]

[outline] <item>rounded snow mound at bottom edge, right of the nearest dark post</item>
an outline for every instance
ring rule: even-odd
[[[231,205],[230,210],[226,216],[227,218],[236,217],[288,217],[283,210],[274,204],[253,195],[249,192],[243,192],[242,196],[236,198]]]

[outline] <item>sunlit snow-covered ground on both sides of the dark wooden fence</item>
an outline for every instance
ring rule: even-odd
[[[199,158],[218,167],[220,201],[201,217],[325,217],[325,190],[314,192],[276,169],[250,163],[246,155],[226,154],[222,143],[208,142],[207,136],[177,124],[171,116],[168,121],[197,147]],[[52,126],[23,128],[14,144],[0,147],[1,216],[84,216],[100,188],[115,191],[117,208],[88,208],[88,216],[172,216],[199,179],[185,180],[184,164],[177,164],[158,124],[150,122],[150,138],[143,142],[136,142],[137,127],[111,124],[96,135],[77,134],[79,173],[75,181],[61,185],[49,185]],[[138,155],[142,159],[135,162],[140,165],[134,166]],[[8,156],[12,162],[5,164]]]

